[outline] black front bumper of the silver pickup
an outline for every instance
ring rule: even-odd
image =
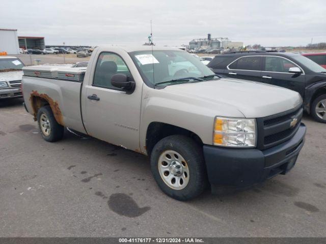
[[[286,174],[296,162],[305,134],[306,126],[301,123],[290,140],[265,150],[204,145],[212,192],[219,186],[246,188],[278,174]]]

